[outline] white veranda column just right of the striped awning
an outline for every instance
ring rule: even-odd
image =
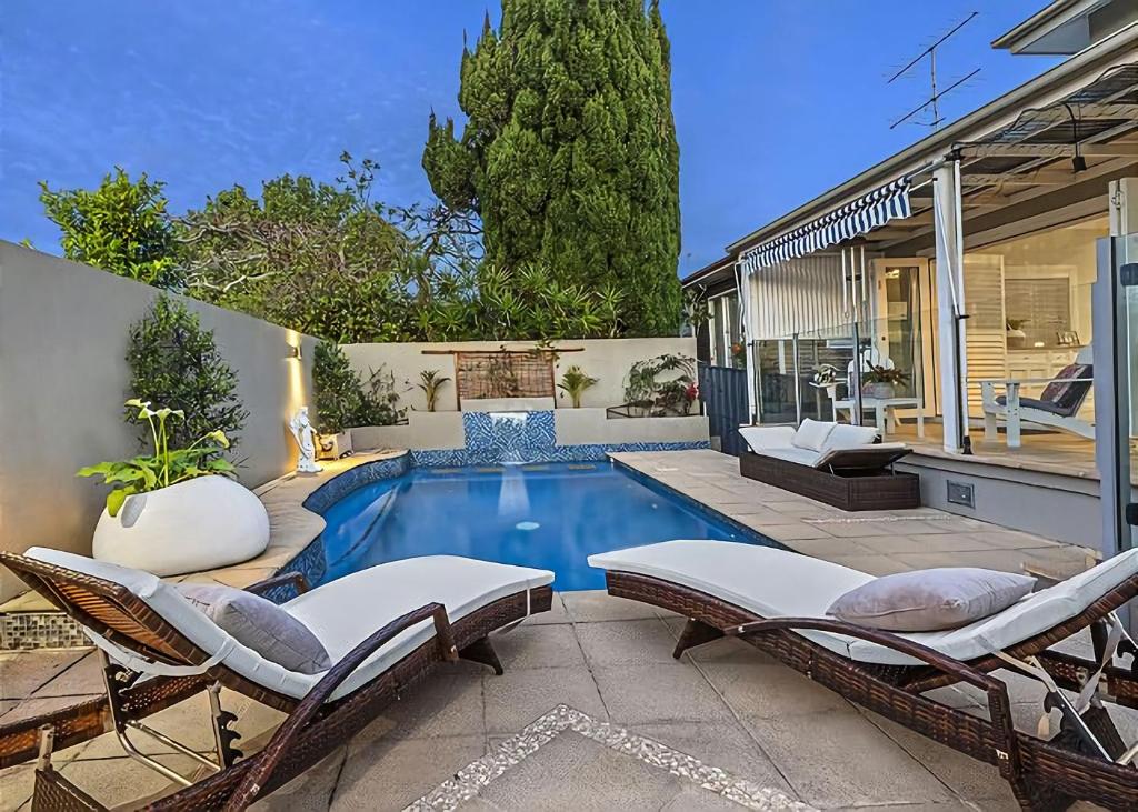
[[[933,171],[933,225],[937,233],[937,323],[942,384],[940,411],[947,451],[963,451],[968,434],[962,219],[960,163],[946,160]]]

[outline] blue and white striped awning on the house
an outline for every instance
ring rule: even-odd
[[[803,226],[756,246],[743,254],[741,262],[747,273],[753,273],[759,268],[820,251],[859,234],[868,234],[891,219],[908,217],[910,214],[909,179],[901,177]]]

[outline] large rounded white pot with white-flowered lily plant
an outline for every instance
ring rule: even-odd
[[[178,575],[246,561],[269,545],[269,514],[261,499],[234,479],[223,456],[225,432],[211,431],[171,448],[168,422],[179,409],[150,408],[133,398],[150,426],[154,454],[81,469],[112,486],[92,541],[93,555],[124,566]]]

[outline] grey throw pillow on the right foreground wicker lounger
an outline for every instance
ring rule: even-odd
[[[826,614],[867,629],[941,631],[1001,612],[1036,579],[974,566],[884,575],[834,600]]]

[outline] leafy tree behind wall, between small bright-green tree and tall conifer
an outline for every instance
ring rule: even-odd
[[[378,165],[340,159],[335,185],[286,174],[259,200],[234,185],[181,218],[188,291],[333,341],[404,338],[407,241],[370,200]]]

